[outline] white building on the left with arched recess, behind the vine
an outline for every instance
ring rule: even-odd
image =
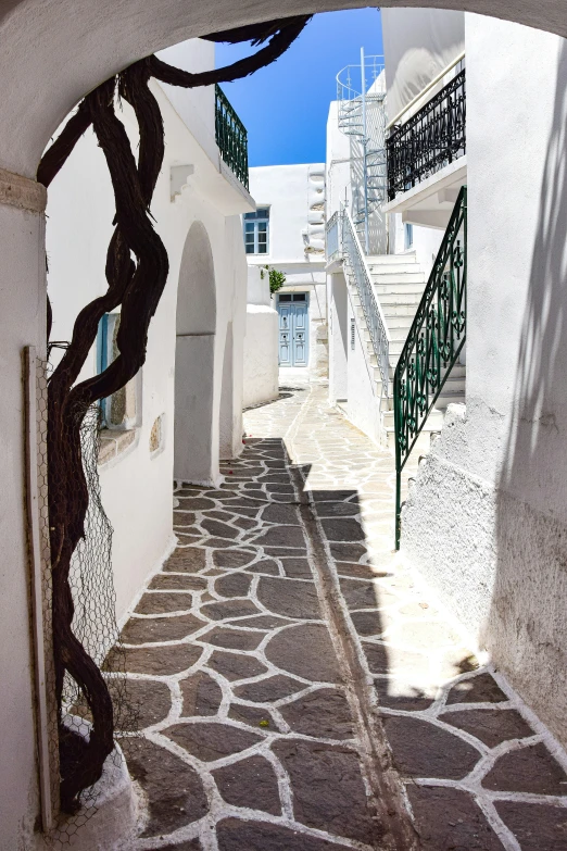
[[[187,70],[213,67],[214,45],[196,39],[164,58]],[[103,405],[99,474],[114,528],[118,618],[173,546],[173,478],[215,484],[219,458],[238,455],[242,446],[247,263],[240,214],[254,203],[215,141],[214,87],[151,87],[166,140],[152,213],[169,275],[143,367]],[[122,117],[136,142],[127,103]],[[104,157],[89,130],[49,190],[52,340],[71,339],[79,310],[106,289],[113,203]],[[83,378],[113,360],[118,322],[119,313],[104,317]]]

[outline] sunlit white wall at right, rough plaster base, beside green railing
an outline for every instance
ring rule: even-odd
[[[567,48],[476,15],[466,47],[466,415],[419,470],[402,546],[565,742]]]

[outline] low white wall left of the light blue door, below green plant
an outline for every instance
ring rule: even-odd
[[[269,280],[260,270],[248,270],[247,335],[244,339],[244,408],[278,397],[278,314]]]

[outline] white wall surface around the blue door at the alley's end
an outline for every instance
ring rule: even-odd
[[[267,263],[284,272],[286,285],[280,292],[310,293],[306,373],[310,378],[326,378],[325,164],[251,168],[250,191],[259,207],[269,205],[269,250],[267,254],[248,254],[248,263]]]

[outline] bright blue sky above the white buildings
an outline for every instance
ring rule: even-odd
[[[382,53],[380,13],[353,9],[315,15],[277,62],[222,88],[248,129],[250,165],[325,161],[329,103],[336,75],[360,64],[361,47]],[[251,52],[250,45],[217,45],[216,65]]]

